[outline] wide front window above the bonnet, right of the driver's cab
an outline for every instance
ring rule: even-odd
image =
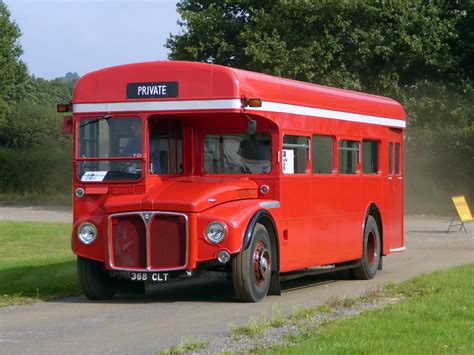
[[[268,174],[271,142],[268,133],[209,134],[204,140],[204,170],[209,174]]]

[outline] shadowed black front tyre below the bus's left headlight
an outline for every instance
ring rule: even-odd
[[[82,292],[91,300],[111,299],[120,287],[120,281],[111,278],[104,264],[77,257],[77,275]]]

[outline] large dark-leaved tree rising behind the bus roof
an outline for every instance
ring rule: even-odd
[[[459,77],[465,9],[447,1],[182,0],[170,59],[235,66],[370,92]]]

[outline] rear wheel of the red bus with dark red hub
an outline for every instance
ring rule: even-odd
[[[360,265],[353,269],[354,278],[357,280],[373,279],[377,273],[381,256],[380,232],[375,218],[367,217],[364,229],[363,254],[360,259]]]

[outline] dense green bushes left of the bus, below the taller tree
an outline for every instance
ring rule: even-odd
[[[0,121],[0,196],[69,191],[72,141],[61,133],[56,104],[70,100],[76,81],[27,76],[11,90],[9,111]]]

